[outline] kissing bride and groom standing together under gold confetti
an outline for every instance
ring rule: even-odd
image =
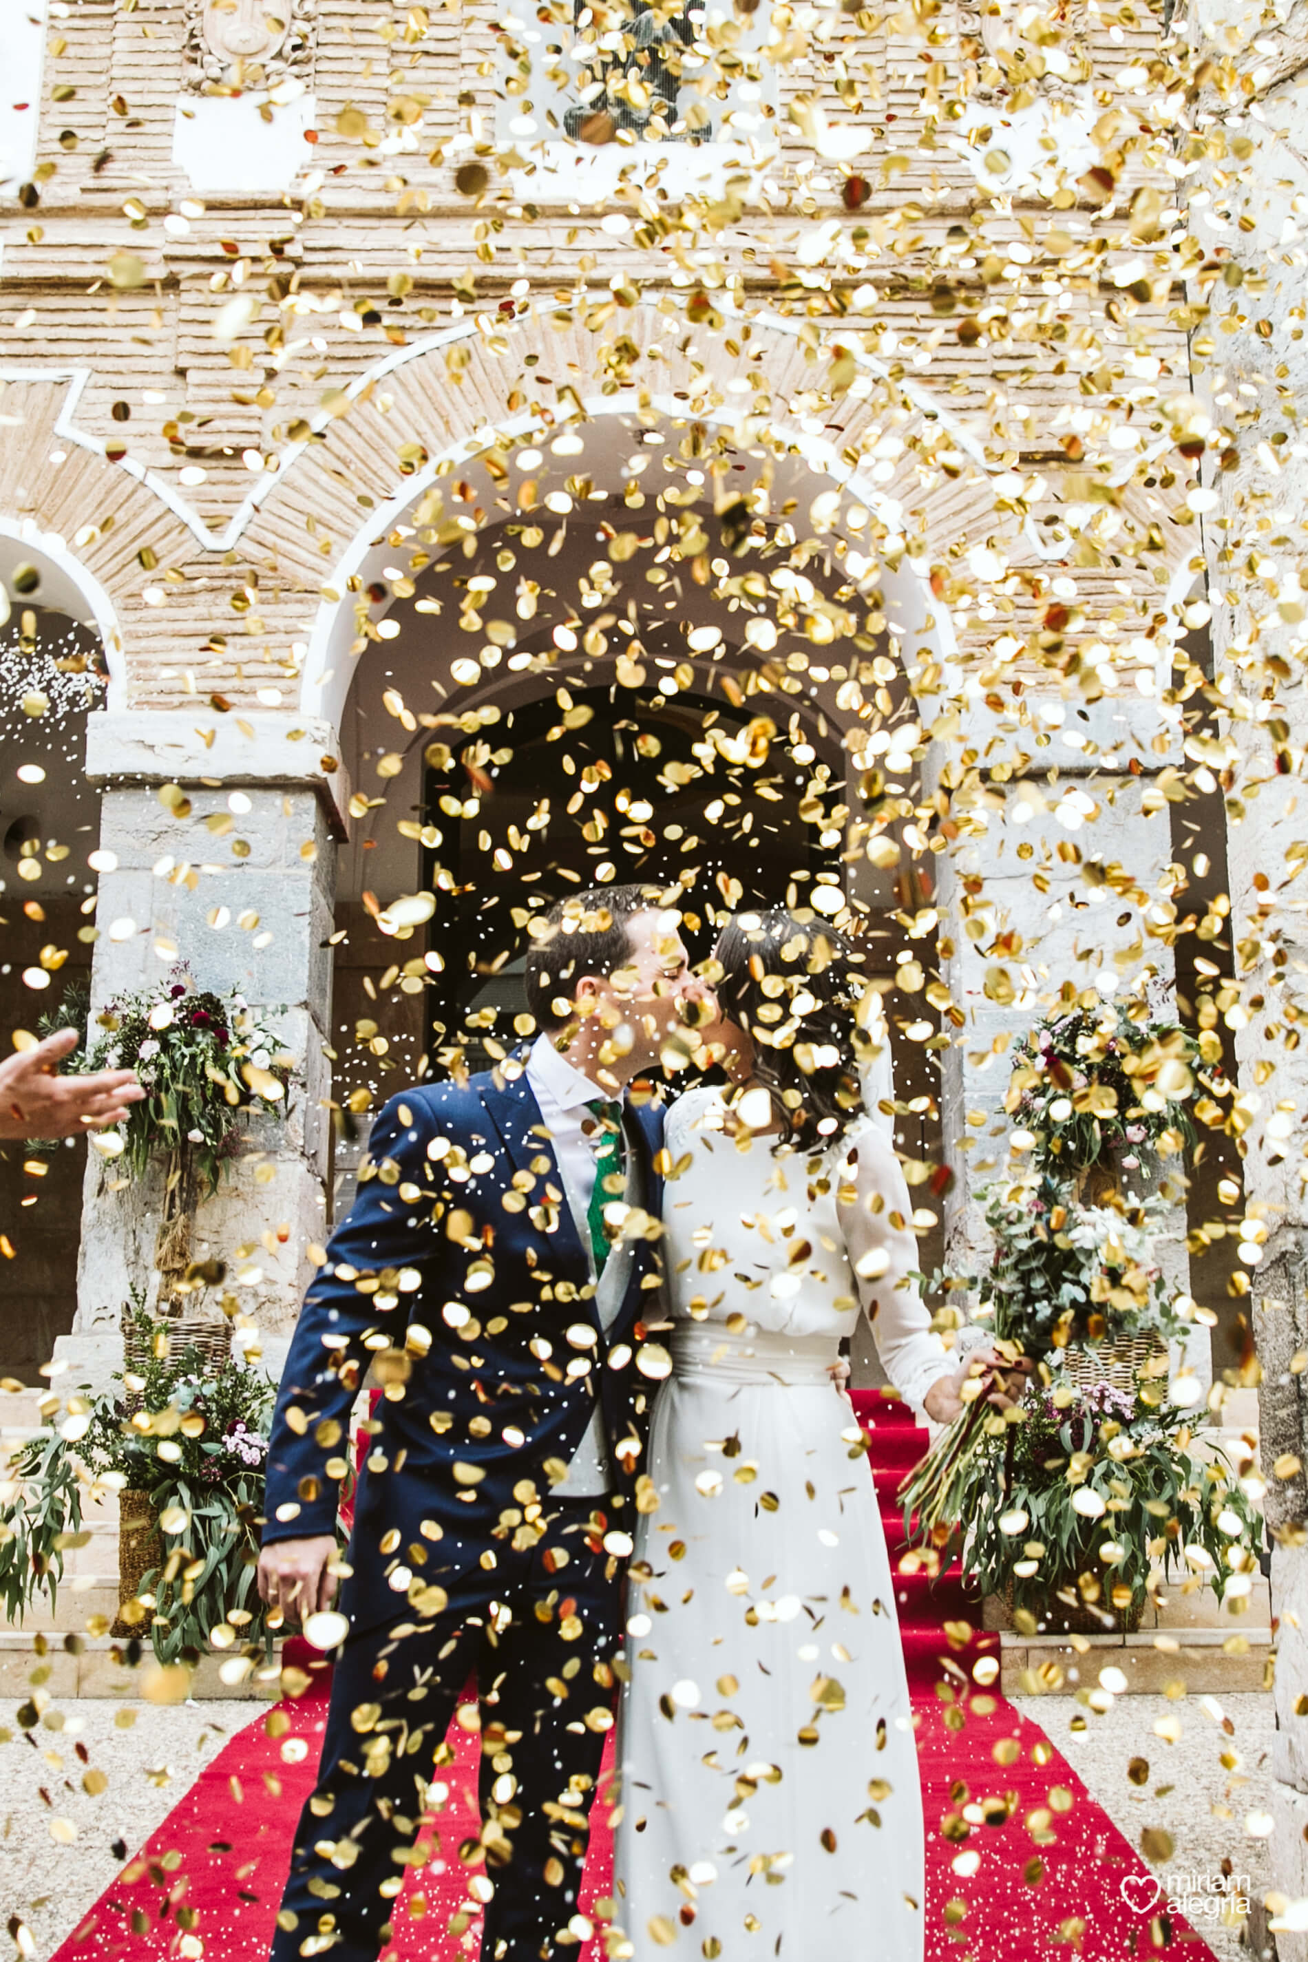
[[[473,1678],[482,1829],[443,1854],[484,1909],[482,1962],[590,1938],[614,1711],[610,1958],[922,1958],[908,1683],[839,1342],[867,1315],[935,1422],[969,1373],[1010,1399],[918,1293],[904,1173],[859,1089],[857,952],[741,912],[710,991],[679,920],[653,887],[561,901],[528,957],[533,1044],[384,1105],[308,1289],[259,1587],[308,1621],[345,1572],[347,1632],[275,1962],[388,1944]],[[728,1085],[663,1103],[641,1075],[669,1046]]]

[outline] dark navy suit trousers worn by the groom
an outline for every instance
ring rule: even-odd
[[[482,1844],[441,1844],[484,1905],[482,1962],[577,1952],[588,1813],[614,1707],[622,1570],[584,1542],[592,1503],[551,1509],[533,1548],[496,1566],[429,1572],[449,1605],[351,1632],[335,1656],[318,1785],[296,1829],[271,1962],[377,1962],[428,1787],[473,1670],[478,1681]],[[559,1550],[567,1560],[559,1560]],[[439,1815],[435,1831],[441,1834]],[[445,1834],[441,1834],[441,1840]],[[480,1860],[484,1854],[484,1864]],[[473,1897],[467,1901],[473,1909]]]

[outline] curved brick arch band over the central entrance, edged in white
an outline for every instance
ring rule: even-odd
[[[747,381],[747,357],[759,351],[753,371],[767,377],[769,406],[751,424],[733,385]],[[841,355],[853,387],[816,428],[808,414],[822,400],[814,383]],[[751,398],[759,392],[749,388]],[[394,551],[388,532],[443,477],[559,434],[567,420],[588,434],[624,416],[679,428],[698,422],[755,451],[765,447],[779,469],[812,481],[810,496],[843,487],[871,512],[849,543],[880,561],[882,585],[888,579],[900,589],[904,632],[933,636],[945,659],[953,636],[943,602],[924,598],[930,567],[959,524],[994,510],[984,455],[957,418],[926,390],[890,377],[853,336],[841,341],[810,322],[724,312],[710,330],[690,326],[682,312],[641,304],[590,332],[573,316],[531,310],[504,324],[469,322],[388,357],[286,459],[245,540],[251,557],[271,557],[294,585],[327,591],[300,697],[302,712],[327,720],[343,706],[339,677],[353,640],[347,581],[373,577]],[[324,540],[331,545],[326,563]],[[335,675],[335,693],[320,683],[324,671]]]

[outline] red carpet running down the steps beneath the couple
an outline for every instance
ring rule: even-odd
[[[873,1426],[871,1462],[886,1540],[898,1548],[894,1487],[922,1454],[926,1434],[912,1426],[902,1405],[877,1393],[857,1393],[855,1405]],[[1212,1950],[1186,1923],[1155,1919],[1122,1897],[1126,1878],[1147,1874],[1141,1858],[1043,1730],[1004,1697],[973,1683],[977,1656],[998,1656],[998,1636],[979,1632],[979,1603],[965,1593],[957,1572],[933,1587],[926,1575],[902,1575],[898,1611],[928,1827],[926,1962],[1116,1962],[1163,1948],[1175,1950],[1177,1962],[1181,1956],[1208,1962]],[[318,1674],[326,1678],[326,1670]],[[294,1825],[314,1783],[326,1705],[322,1695],[306,1695],[278,1711],[288,1730],[269,1738],[261,1721],[235,1736],[53,1962],[267,1956]],[[1051,1717],[1067,1715],[1065,1699],[1051,1703]],[[465,1962],[477,1954],[475,1925],[455,1933],[447,1927],[465,1899],[459,1844],[477,1833],[477,1742],[457,1727],[451,1738],[459,1746],[457,1764],[441,1774],[449,1795],[431,1825],[428,1864],[408,1870],[396,1901],[390,1962]],[[973,1807],[979,1813],[967,1840],[945,1838],[941,1821]],[[1043,1846],[1026,1827],[1035,1811],[1047,1815],[1053,1834]],[[610,1885],[604,1797],[596,1819],[588,1901]],[[973,1854],[979,1864],[969,1870]],[[875,1936],[869,1956],[873,1950]],[[602,1962],[602,1938],[582,1940],[575,1952],[579,1962]]]

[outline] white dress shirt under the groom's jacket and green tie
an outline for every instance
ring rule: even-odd
[[[573,1214],[573,1224],[577,1226],[577,1236],[586,1254],[586,1265],[590,1269],[590,1281],[594,1283],[594,1250],[590,1246],[590,1195],[594,1193],[594,1167],[604,1136],[600,1124],[594,1120],[586,1105],[596,1099],[600,1103],[620,1103],[610,1091],[600,1089],[590,1077],[569,1063],[549,1036],[537,1036],[531,1044],[526,1069],[531,1095],[541,1107],[541,1122],[549,1132],[549,1140],[555,1150],[555,1160],[559,1162],[559,1177],[563,1181],[563,1195]],[[590,1126],[590,1132],[582,1132],[582,1122]],[[633,1154],[628,1148],[628,1167],[631,1167]],[[614,1248],[604,1265],[602,1283],[596,1291],[596,1309],[600,1315],[600,1324],[606,1328],[618,1309],[622,1307],[622,1297],[626,1293],[626,1269],[628,1260],[618,1258],[620,1248]],[[612,1269],[612,1273],[610,1273]],[[600,1415],[600,1399],[596,1395],[594,1411],[590,1413],[590,1426],[577,1446],[573,1460],[569,1464],[569,1475],[561,1485],[553,1487],[555,1499],[602,1499],[612,1485],[612,1472],[608,1464],[608,1444],[604,1438],[604,1419]]]

